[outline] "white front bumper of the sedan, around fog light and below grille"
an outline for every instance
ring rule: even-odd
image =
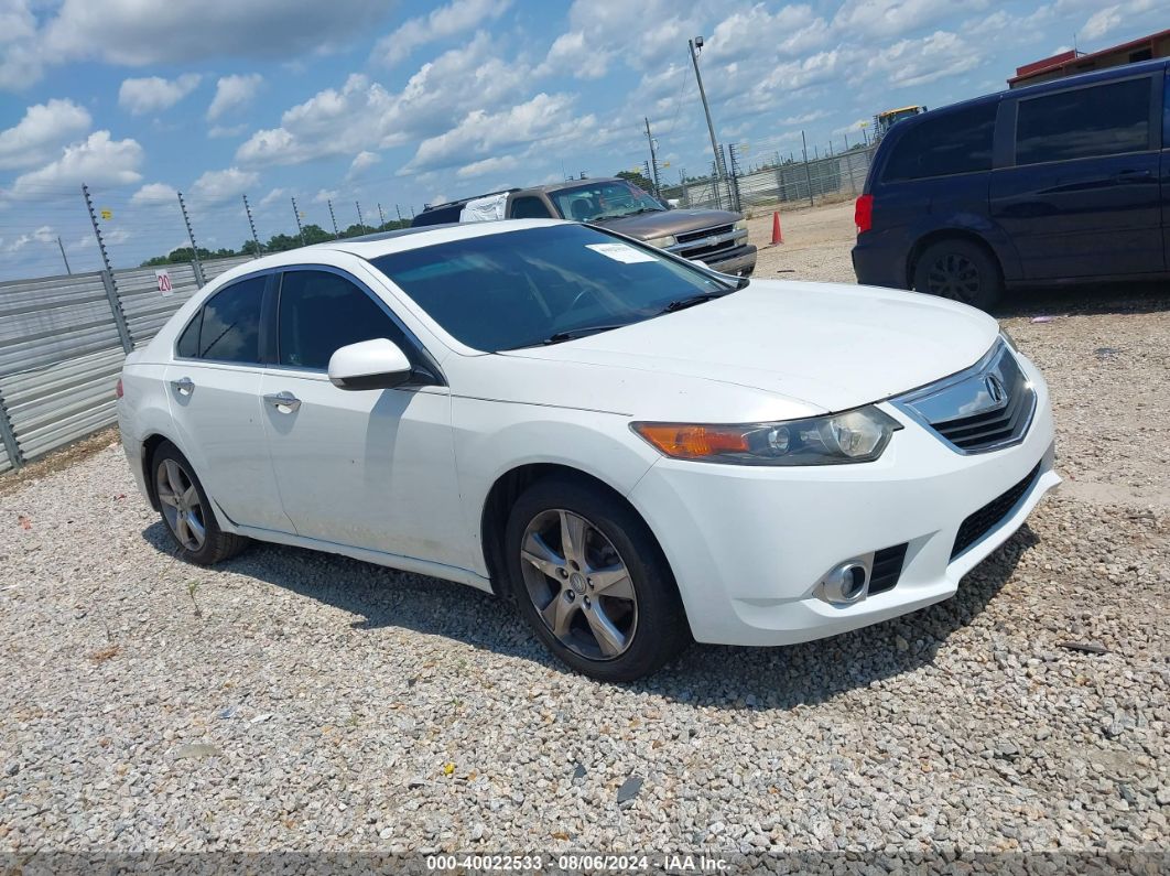
[[[629,495],[655,532],[700,642],[789,644],[888,620],[952,596],[959,580],[1023,525],[1060,482],[1039,372],[1024,440],[963,456],[893,405],[882,457],[856,465],[738,467],[662,458]],[[951,556],[963,522],[1037,468],[1023,496]],[[897,585],[839,606],[818,584],[839,563],[907,544]]]

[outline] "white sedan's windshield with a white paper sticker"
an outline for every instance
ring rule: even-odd
[[[651,247],[579,225],[467,237],[372,263],[447,333],[488,352],[620,327],[736,288]]]

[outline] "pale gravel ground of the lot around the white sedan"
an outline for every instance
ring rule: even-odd
[[[758,276],[849,282],[851,226],[785,214]],[[457,585],[177,563],[113,446],[0,489],[0,850],[1164,853],[1170,294],[1002,316],[1067,482],[958,596],[632,687]]]

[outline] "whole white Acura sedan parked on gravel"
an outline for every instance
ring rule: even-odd
[[[1044,379],[985,313],[569,222],[249,262],[119,393],[184,558],[260,539],[461,581],[606,680],[947,599],[1059,482]]]

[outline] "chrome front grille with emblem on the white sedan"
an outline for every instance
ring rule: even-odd
[[[973,367],[894,400],[955,450],[998,450],[1019,443],[1035,413],[1035,389],[999,342]]]

